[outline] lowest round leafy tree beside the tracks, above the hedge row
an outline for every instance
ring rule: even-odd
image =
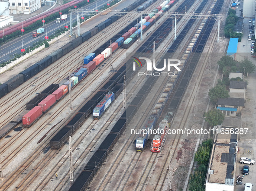
[[[212,126],[221,125],[224,120],[225,115],[217,109],[209,110],[204,113],[205,121],[207,121]]]

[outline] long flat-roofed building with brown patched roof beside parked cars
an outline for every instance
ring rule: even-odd
[[[211,151],[205,180],[206,191],[233,191],[237,161],[237,135],[221,134],[229,130],[218,127],[215,130],[214,144]]]

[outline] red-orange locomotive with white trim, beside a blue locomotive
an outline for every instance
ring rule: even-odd
[[[162,120],[162,122],[160,122],[158,129],[157,129],[158,134],[156,134],[154,136],[154,138],[152,139],[152,142],[151,142],[150,150],[153,153],[160,152],[162,145],[165,142],[168,128],[169,128],[168,121]]]

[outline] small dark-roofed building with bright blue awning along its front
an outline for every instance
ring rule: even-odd
[[[217,109],[221,110],[225,116],[236,116],[242,113],[244,107],[243,98],[219,98],[217,101]]]

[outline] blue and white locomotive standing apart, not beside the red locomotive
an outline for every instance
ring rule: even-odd
[[[108,94],[106,94],[103,99],[100,100],[100,103],[94,107],[93,119],[100,119],[104,111],[107,110],[107,107],[113,102],[114,99],[115,94],[113,92],[108,92]]]

